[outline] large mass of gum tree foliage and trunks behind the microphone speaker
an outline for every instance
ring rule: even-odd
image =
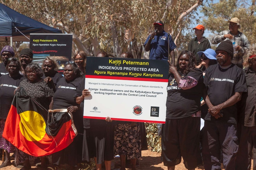
[[[176,1],[176,5],[172,5]],[[46,25],[73,33],[74,51],[88,55],[99,51],[118,55],[133,51],[136,58],[142,54],[142,45],[154,31],[153,23],[163,20],[165,31],[177,38],[177,46],[187,41],[182,32],[198,19],[197,12],[187,12],[202,0],[0,0],[8,7]],[[200,4],[199,3],[199,4]],[[180,18],[186,13],[186,17]],[[134,39],[125,37],[129,30]],[[117,49],[117,50],[116,50]],[[181,48],[182,49],[182,48]],[[138,55],[138,56],[137,56]]]

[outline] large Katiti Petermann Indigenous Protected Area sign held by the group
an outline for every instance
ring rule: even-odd
[[[167,61],[88,57],[84,118],[165,123]]]

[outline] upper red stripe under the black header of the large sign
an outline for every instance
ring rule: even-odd
[[[140,77],[116,77],[116,76],[86,75],[85,78],[114,79],[114,80],[137,80],[137,81],[148,81],[148,82],[168,82],[168,79],[154,79],[154,78],[140,78]]]

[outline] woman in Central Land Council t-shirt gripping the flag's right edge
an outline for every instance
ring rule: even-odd
[[[83,114],[73,95],[82,80],[82,72],[77,64],[69,61],[64,67],[63,74],[64,77],[57,83],[56,92],[53,95],[53,109],[67,109],[73,114],[78,135],[67,148],[52,154],[52,163],[57,166],[67,163],[75,167],[82,161]]]

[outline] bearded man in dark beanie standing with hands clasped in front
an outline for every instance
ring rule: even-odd
[[[203,98],[208,106],[205,116],[202,155],[206,170],[221,170],[221,150],[225,170],[235,169],[238,151],[237,107],[247,91],[244,72],[231,62],[233,45],[222,41],[216,48],[217,64],[206,69]]]

